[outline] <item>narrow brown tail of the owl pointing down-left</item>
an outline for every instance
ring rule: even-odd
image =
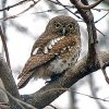
[[[25,75],[23,75],[20,80],[20,82],[17,83],[17,88],[23,88],[27,83],[28,81],[33,77],[33,73],[27,73]]]

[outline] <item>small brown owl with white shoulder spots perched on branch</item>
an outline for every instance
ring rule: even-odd
[[[81,51],[81,34],[77,21],[59,15],[51,19],[45,32],[32,48],[31,57],[19,75],[19,88],[23,88],[32,77],[50,78],[53,82],[74,65]]]

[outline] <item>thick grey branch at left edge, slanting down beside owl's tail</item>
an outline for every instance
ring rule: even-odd
[[[20,94],[12,76],[12,72],[0,55],[0,77],[3,82],[4,88],[14,97],[20,98]],[[13,104],[13,100],[9,97],[10,104]]]

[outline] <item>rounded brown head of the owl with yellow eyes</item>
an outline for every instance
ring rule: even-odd
[[[58,36],[80,35],[80,27],[73,17],[59,15],[49,21],[46,32]]]

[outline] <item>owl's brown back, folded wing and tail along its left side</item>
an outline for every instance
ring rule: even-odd
[[[47,45],[47,43],[50,40],[50,38],[51,37],[49,35],[46,35],[46,33],[44,33],[35,41],[35,44],[32,48],[31,58],[27,60],[22,73],[17,77],[17,78],[20,78],[20,82],[17,83],[19,88],[24,87],[28,83],[28,81],[33,76],[34,72],[32,72],[32,71],[34,69],[48,62],[50,59],[52,59],[55,57],[55,55],[51,55],[51,53],[49,53],[49,55],[44,53],[45,45]]]

